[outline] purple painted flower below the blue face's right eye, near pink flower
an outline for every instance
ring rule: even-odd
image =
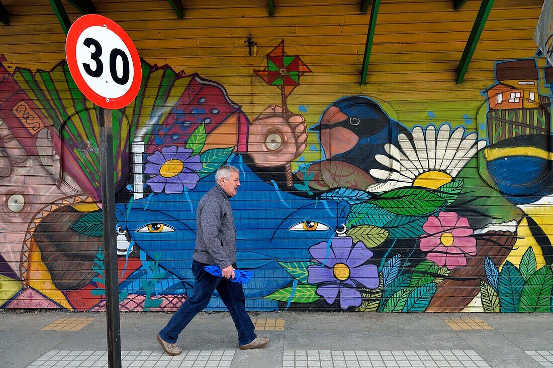
[[[373,253],[362,241],[353,244],[351,237],[337,236],[332,239],[330,247],[322,241],[312,246],[309,253],[322,265],[307,267],[307,282],[322,284],[317,287],[317,294],[329,304],[333,304],[340,294],[342,309],[359,307],[362,298],[356,287],[374,289],[380,283],[377,266],[366,264]]]

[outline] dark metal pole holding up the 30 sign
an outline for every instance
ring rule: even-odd
[[[98,107],[98,122],[100,123],[107,358],[109,368],[121,368],[121,325],[119,325],[119,282],[117,277],[117,234],[115,229],[115,184],[113,179],[111,110]]]

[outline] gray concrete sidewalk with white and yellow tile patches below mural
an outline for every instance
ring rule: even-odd
[[[251,315],[266,348],[238,350],[228,313],[205,313],[170,357],[155,340],[170,313],[122,313],[123,367],[553,367],[553,314]],[[107,367],[105,315],[4,311],[0,350],[1,368]]]

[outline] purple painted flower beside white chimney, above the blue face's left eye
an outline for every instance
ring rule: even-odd
[[[202,164],[199,155],[191,154],[191,149],[169,146],[149,155],[144,174],[155,175],[146,181],[152,190],[179,194],[184,188],[194,189],[200,180],[194,171],[201,170]]]

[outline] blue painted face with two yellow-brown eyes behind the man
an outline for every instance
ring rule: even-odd
[[[231,198],[237,231],[237,265],[254,270],[244,287],[249,298],[262,298],[288,285],[293,278],[276,262],[310,259],[309,247],[327,241],[349,213],[346,202],[295,196],[261,180],[240,157],[231,165],[240,170],[242,185]],[[215,175],[203,178],[193,191],[154,194],[118,204],[118,225],[128,230],[150,258],[188,285],[196,245],[196,208],[215,185]],[[263,304],[263,303],[262,303]]]

